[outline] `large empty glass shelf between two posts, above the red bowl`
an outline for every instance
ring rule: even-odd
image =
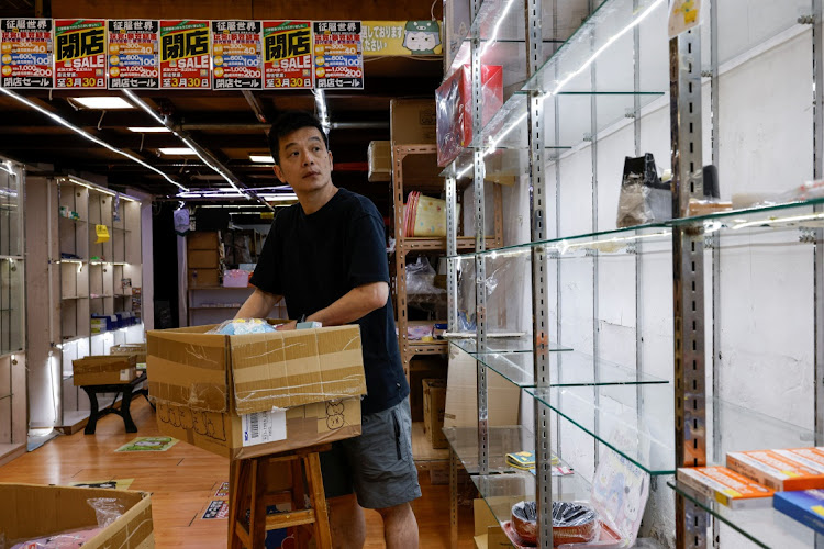
[[[675,474],[669,384],[527,388],[526,392],[649,474]]]

